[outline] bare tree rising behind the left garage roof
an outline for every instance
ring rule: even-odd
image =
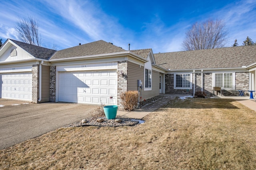
[[[41,46],[41,37],[38,34],[38,22],[32,17],[19,20],[16,24],[16,36],[22,42]]]

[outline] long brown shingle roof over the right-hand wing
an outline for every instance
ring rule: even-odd
[[[232,68],[256,63],[256,45],[154,54],[165,69]]]

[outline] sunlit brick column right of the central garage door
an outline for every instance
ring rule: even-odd
[[[121,104],[121,98],[120,98],[120,94],[124,93],[127,91],[127,79],[128,77],[123,77],[122,75],[120,75],[120,72],[124,72],[127,73],[127,61],[119,61],[118,62],[118,66],[117,66],[117,74],[118,74],[118,78],[117,78],[117,105],[119,107],[119,109],[122,109],[122,104]]]

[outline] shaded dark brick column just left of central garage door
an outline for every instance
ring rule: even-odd
[[[56,98],[56,66],[50,66],[50,102]]]

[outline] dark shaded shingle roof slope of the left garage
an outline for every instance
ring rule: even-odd
[[[53,49],[39,47],[36,45],[31,45],[31,44],[19,42],[16,40],[11,40],[11,41],[16,43],[22,49],[24,49],[25,51],[27,51],[28,53],[30,53],[31,55],[39,59],[49,59],[56,52],[56,50],[53,50]]]

